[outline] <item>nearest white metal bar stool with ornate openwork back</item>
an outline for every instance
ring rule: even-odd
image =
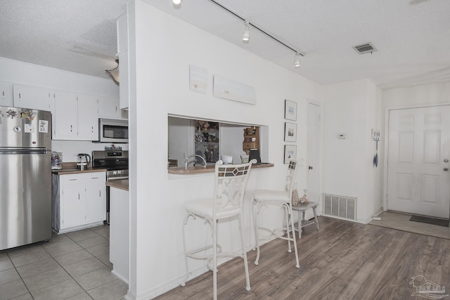
[[[221,160],[216,163],[214,171],[214,195],[212,198],[198,200],[186,206],[186,216],[183,223],[183,247],[184,259],[186,263],[186,278],[181,282],[184,287],[188,281],[189,269],[188,258],[204,259],[207,266],[212,270],[212,285],[214,300],[217,299],[217,258],[220,256],[241,256],[244,259],[246,287],[250,291],[250,278],[248,275],[247,253],[245,252],[245,241],[243,231],[243,199],[245,187],[247,186],[248,175],[252,164],[256,159],[252,159],[248,164],[223,164]],[[186,250],[185,226],[189,217],[192,219],[200,218],[211,227],[212,244],[199,249]],[[241,252],[225,253],[221,252],[221,246],[217,243],[217,223],[221,219],[237,219],[240,230]],[[211,251],[212,250],[212,251]],[[205,253],[212,252],[212,253]]]

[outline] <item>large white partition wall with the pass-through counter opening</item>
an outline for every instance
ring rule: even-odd
[[[167,115],[268,126],[269,155],[266,159],[274,162],[275,167],[255,170],[249,186],[250,189],[282,188],[286,170],[283,164],[284,100],[297,102],[297,119],[306,119],[306,109],[302,107],[307,107],[307,98],[321,101],[322,88],[141,0],[131,1],[129,8],[132,220],[129,296],[148,299],[181,282],[184,206],[198,197],[210,197],[213,188],[211,175],[181,178],[166,175]],[[207,69],[205,95],[189,91],[189,65]],[[214,98],[213,74],[254,86],[257,104]],[[306,131],[302,128],[300,132]],[[302,134],[297,145],[304,143],[306,135]],[[297,158],[305,159],[305,155],[306,147],[298,147]],[[151,166],[150,174],[148,166]],[[304,188],[304,167],[299,169],[297,181],[299,188]],[[250,198],[246,201],[250,204]],[[250,223],[246,227],[250,236]],[[193,233],[187,238],[199,242]],[[230,247],[236,247],[236,239],[224,242],[227,241]],[[250,244],[250,240],[247,243]]]

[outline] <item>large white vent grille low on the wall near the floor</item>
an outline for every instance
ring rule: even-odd
[[[356,198],[323,194],[323,214],[356,220]]]

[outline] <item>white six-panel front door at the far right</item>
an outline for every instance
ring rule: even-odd
[[[387,209],[449,219],[450,106],[389,116]]]

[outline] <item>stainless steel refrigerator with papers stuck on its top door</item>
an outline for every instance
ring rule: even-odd
[[[51,113],[0,106],[0,250],[51,238]]]

